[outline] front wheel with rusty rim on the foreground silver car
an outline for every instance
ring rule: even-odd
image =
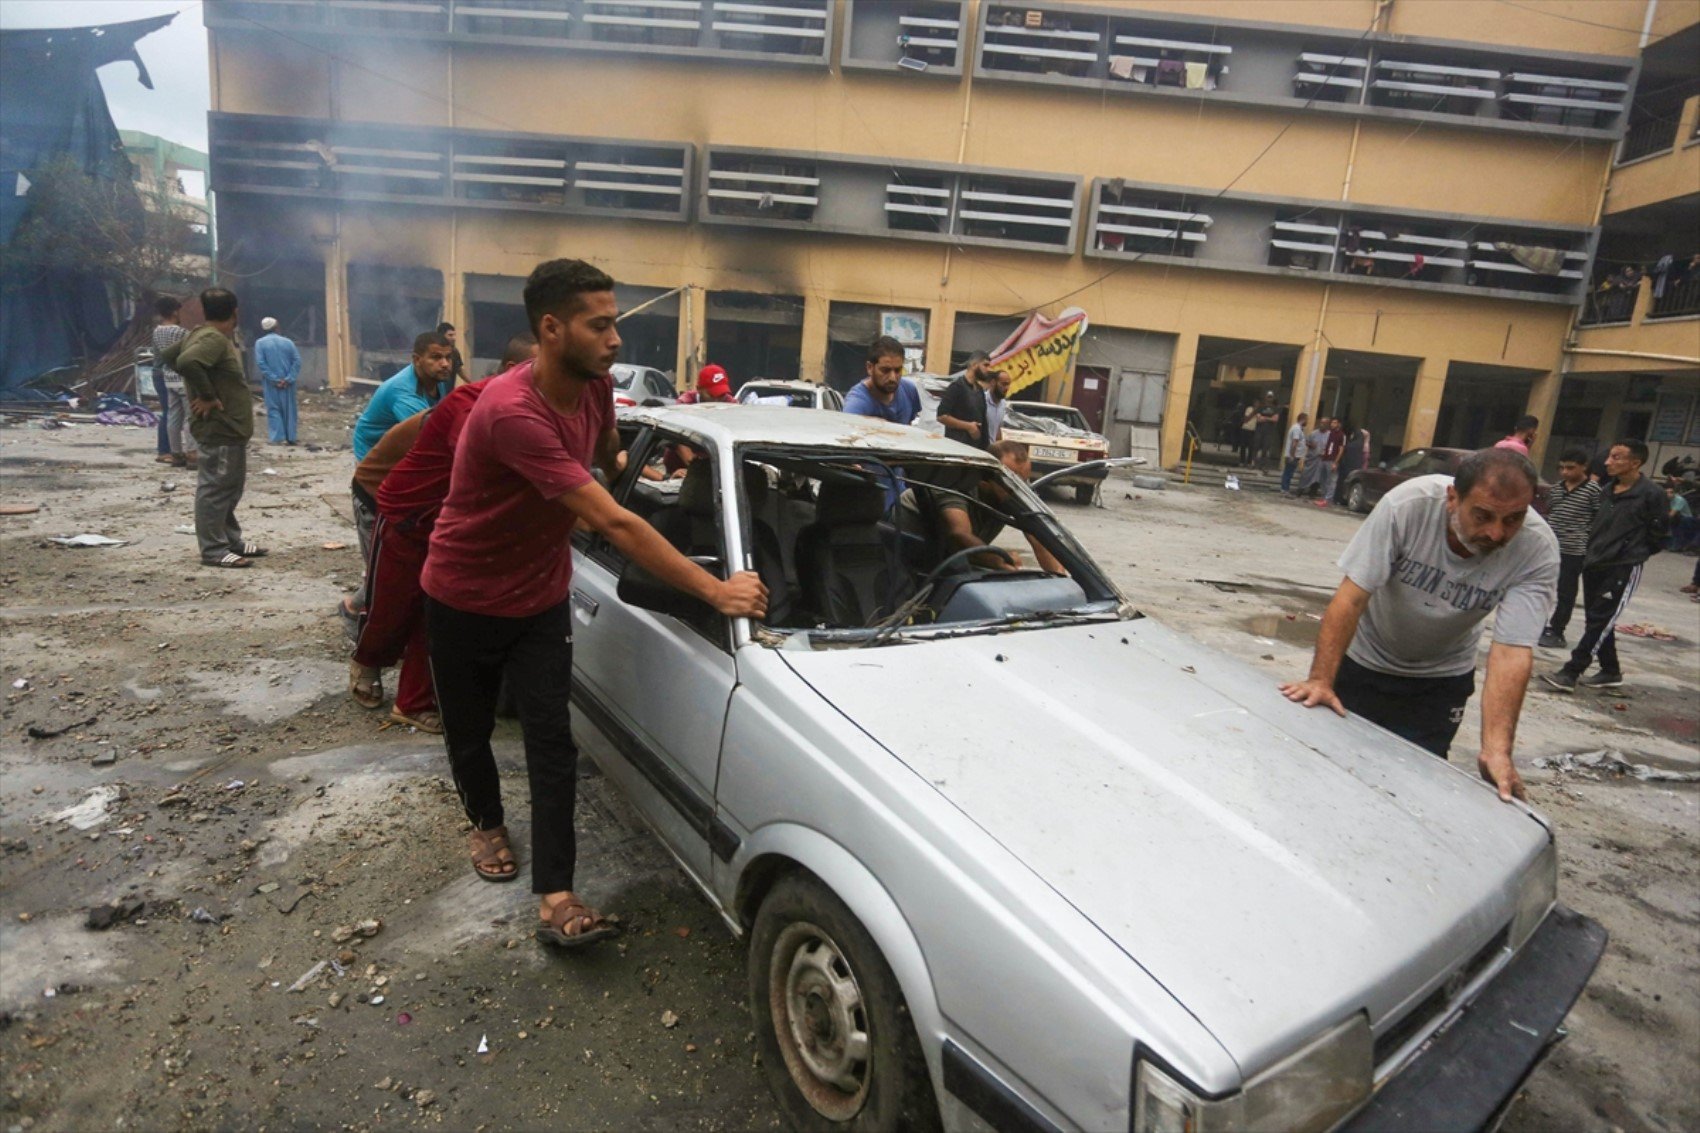
[[[794,1130],[938,1130],[938,1102],[898,978],[814,876],[787,874],[750,934],[750,1011]]]

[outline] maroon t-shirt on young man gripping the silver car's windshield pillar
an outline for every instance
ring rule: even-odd
[[[597,441],[614,427],[614,379],[592,381],[571,415],[542,400],[530,362],[483,384],[420,584],[469,614],[529,618],[571,589],[573,512],[556,500],[592,481]]]

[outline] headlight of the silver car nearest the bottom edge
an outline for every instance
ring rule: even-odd
[[[1227,1097],[1200,1097],[1156,1063],[1134,1072],[1134,1133],[1328,1130],[1374,1085],[1374,1038],[1362,1014],[1270,1067]]]

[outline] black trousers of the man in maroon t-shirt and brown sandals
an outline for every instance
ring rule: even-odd
[[[430,670],[466,817],[479,830],[502,825],[502,779],[490,750],[496,696],[507,677],[525,735],[532,793],[532,891],[573,888],[578,839],[578,749],[571,728],[573,618],[570,602],[530,618],[491,618],[425,599]]]

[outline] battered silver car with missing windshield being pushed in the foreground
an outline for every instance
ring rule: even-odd
[[[770,606],[576,532],[578,732],[748,941],[794,1128],[1474,1130],[1561,1034],[1605,934],[1545,820],[1141,616],[988,454],[758,405],[619,427],[614,495]],[[677,444],[677,488],[638,476]],[[955,505],[1068,573],[949,543]]]

